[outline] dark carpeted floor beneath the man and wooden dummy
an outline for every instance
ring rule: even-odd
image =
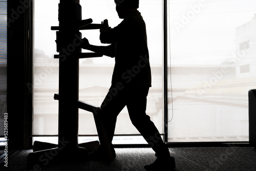
[[[256,149],[253,147],[174,147],[169,151],[176,160],[177,171],[191,170],[256,170]],[[20,151],[8,161],[8,167],[2,166],[1,171],[30,171],[26,169],[27,156],[32,150]],[[146,164],[155,161],[151,148],[116,148],[117,158],[112,163],[102,161],[65,162],[46,165],[34,170],[145,170]],[[72,158],[72,156],[71,156]],[[33,170],[33,169],[32,169]]]

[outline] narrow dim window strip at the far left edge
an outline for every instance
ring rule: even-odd
[[[0,145],[5,144],[4,114],[7,105],[7,1],[0,2]],[[3,141],[1,141],[3,140]]]

